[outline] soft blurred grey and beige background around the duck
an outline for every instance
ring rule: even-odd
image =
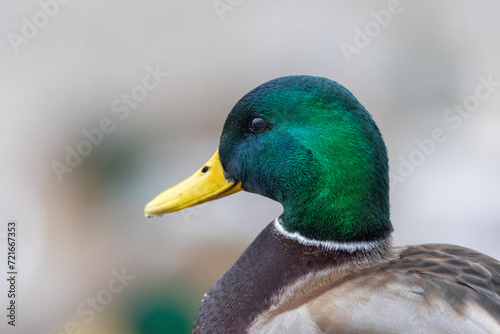
[[[17,326],[2,312],[1,333],[189,333],[281,207],[143,208],[284,75],[336,80],[372,113],[396,244],[500,258],[500,2],[60,1],[0,4],[0,256],[9,220],[19,235]]]

